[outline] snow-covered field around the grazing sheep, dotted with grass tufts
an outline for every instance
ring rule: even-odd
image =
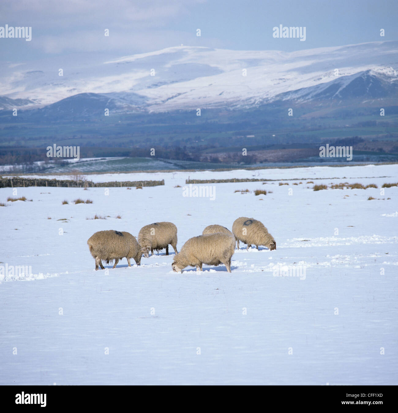
[[[175,188],[188,175],[289,185],[214,184],[211,200]],[[398,187],[380,193],[398,182],[396,165],[89,178],[165,185],[109,195],[0,189],[0,384],[398,384]],[[315,178],[378,188],[313,191],[306,182]],[[272,193],[234,192],[246,188]],[[6,202],[20,196],[32,202]],[[73,204],[78,197],[92,204]],[[95,214],[106,219],[87,219]],[[139,267],[123,259],[95,271],[86,243],[99,230],[137,236],[143,225],[172,221],[180,250],[206,225],[231,229],[239,216],[261,220],[277,249],[241,244],[232,273],[223,265],[174,273],[174,254],[164,252]],[[32,273],[4,274],[14,266]]]

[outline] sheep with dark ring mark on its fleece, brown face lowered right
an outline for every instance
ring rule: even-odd
[[[251,247],[251,244],[256,245],[258,249],[259,245],[265,245],[265,247],[269,248],[271,251],[276,249],[276,242],[272,235],[268,233],[267,228],[254,218],[247,218],[246,216],[241,216],[240,218],[236,219],[232,225],[232,232],[235,235],[235,239],[238,242],[238,249],[239,249],[239,241],[244,242],[247,244],[247,248]]]

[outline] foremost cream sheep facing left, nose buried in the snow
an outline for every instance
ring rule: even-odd
[[[225,233],[199,235],[190,238],[175,255],[171,268],[182,272],[187,267],[202,271],[202,264],[218,265],[223,263],[231,272],[231,257],[235,252],[235,238]]]

